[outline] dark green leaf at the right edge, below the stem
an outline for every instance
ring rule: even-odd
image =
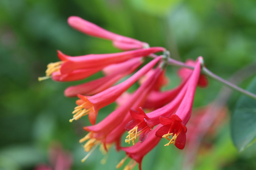
[[[256,78],[247,90],[256,93]],[[240,97],[231,116],[231,135],[239,152],[256,141],[256,100],[247,96]]]

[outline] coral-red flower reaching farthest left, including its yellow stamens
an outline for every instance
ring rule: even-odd
[[[60,61],[48,64],[47,70],[45,71],[46,77],[38,78],[38,80],[41,81],[51,77],[57,81],[80,80],[91,76],[92,74],[102,70],[104,67],[110,64],[122,63],[131,58],[147,56],[151,53],[164,50],[165,49],[162,47],[152,47],[120,53],[90,54],[75,57],[65,55],[58,50],[57,52]],[[89,72],[87,73],[87,71]]]

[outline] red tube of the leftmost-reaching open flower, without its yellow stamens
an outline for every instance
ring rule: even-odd
[[[60,72],[67,74],[73,70],[95,68],[108,66],[110,64],[121,63],[134,57],[147,56],[151,53],[161,52],[162,47],[152,47],[145,49],[136,49],[112,54],[90,54],[71,57],[58,51],[58,56],[63,63],[60,66]]]

